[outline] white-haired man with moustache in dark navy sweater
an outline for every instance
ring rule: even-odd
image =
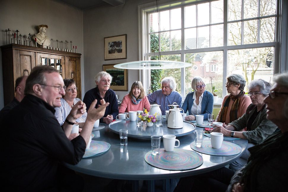
[[[101,99],[110,103],[106,108],[104,116],[100,119],[100,123],[111,123],[119,113],[116,94],[112,89],[109,89],[111,81],[112,76],[109,73],[105,71],[97,73],[95,76],[96,87],[90,89],[84,95],[83,102],[86,104],[87,111],[95,99],[97,99],[96,108],[98,105],[101,105]]]

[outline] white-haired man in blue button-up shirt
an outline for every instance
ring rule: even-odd
[[[162,88],[149,94],[148,100],[150,103],[157,103],[160,106],[162,115],[165,111],[169,110],[168,105],[172,105],[174,102],[182,106],[182,96],[176,90],[176,81],[173,77],[165,77],[161,81]]]

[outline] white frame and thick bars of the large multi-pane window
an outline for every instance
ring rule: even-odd
[[[159,1],[159,7],[158,11],[163,11],[167,9],[173,9],[177,7],[181,7],[181,21],[182,21],[182,50],[179,51],[166,51],[161,52],[161,55],[171,55],[171,54],[180,54],[181,55],[181,61],[185,62],[185,53],[198,53],[198,52],[212,52],[212,51],[223,51],[223,97],[226,95],[226,89],[225,89],[225,83],[226,82],[226,76],[227,76],[227,62],[228,62],[228,50],[235,50],[235,49],[250,49],[250,48],[261,48],[261,47],[274,47],[274,69],[273,73],[279,73],[279,71],[287,70],[287,66],[283,67],[283,65],[279,64],[279,57],[281,56],[281,60],[287,60],[287,55],[285,57],[284,54],[280,54],[280,44],[279,44],[279,31],[281,29],[281,38],[287,40],[287,17],[285,18],[285,15],[287,16],[287,10],[285,13],[285,7],[287,7],[287,2],[283,0],[277,0],[276,2],[276,28],[275,28],[275,42],[268,42],[268,43],[259,43],[259,44],[242,44],[242,45],[230,45],[228,46],[228,21],[227,21],[227,13],[228,11],[224,11],[224,35],[223,35],[223,47],[208,47],[208,48],[201,48],[201,49],[188,49],[185,50],[185,38],[184,38],[184,6],[197,4],[197,3],[203,3],[203,2],[209,2],[210,0],[203,1],[203,0],[196,0],[196,1],[171,1],[171,0],[162,0]],[[226,0],[224,2],[224,10],[228,10],[228,3]],[[282,7],[282,10],[280,9]],[[149,34],[147,33],[147,29],[149,23],[148,21],[148,13],[156,12],[156,4],[155,2],[148,3],[145,5],[139,5],[138,6],[138,35],[139,35],[139,60],[148,60],[150,56],[159,55],[158,52],[155,53],[149,53]],[[283,14],[283,17],[279,17],[279,12]],[[281,23],[279,22],[281,19],[282,25],[284,25],[284,30],[281,26]],[[285,25],[286,22],[286,25]],[[284,31],[284,34],[283,34]],[[286,34],[285,34],[286,32]],[[243,39],[243,37],[242,37]],[[282,50],[287,50],[287,44],[281,45]],[[284,56],[283,56],[284,55]],[[225,69],[225,70],[224,70]],[[281,70],[280,70],[281,69]],[[139,76],[142,77],[144,90],[149,89],[149,83],[150,83],[150,70],[139,70]],[[185,68],[181,68],[181,82],[185,82]],[[181,93],[183,98],[185,98],[185,83],[181,83]]]

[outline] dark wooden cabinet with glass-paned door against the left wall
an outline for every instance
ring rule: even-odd
[[[63,79],[74,79],[78,87],[77,97],[81,97],[81,54],[63,52],[17,44],[1,46],[4,105],[12,101],[15,94],[15,80],[29,75],[37,65],[50,65],[57,68]]]

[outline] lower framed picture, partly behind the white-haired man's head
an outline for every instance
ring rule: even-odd
[[[110,89],[113,91],[128,91],[128,69],[115,68],[116,64],[103,65],[103,71],[112,76]]]

